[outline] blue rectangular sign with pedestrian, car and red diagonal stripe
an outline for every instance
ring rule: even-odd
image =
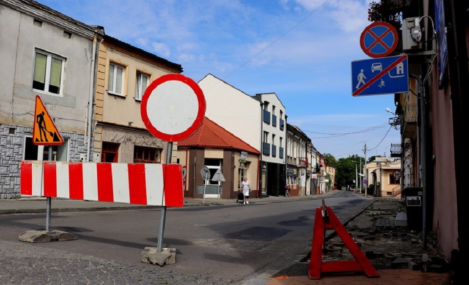
[[[407,56],[352,61],[352,96],[409,91]]]

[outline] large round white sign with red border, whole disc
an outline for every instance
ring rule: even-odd
[[[181,74],[167,74],[145,90],[140,113],[155,137],[176,142],[190,137],[204,120],[205,97],[199,85]]]

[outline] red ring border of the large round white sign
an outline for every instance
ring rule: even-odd
[[[189,87],[191,87],[191,89],[195,93],[195,96],[197,97],[198,110],[197,110],[197,116],[194,122],[187,130],[178,134],[165,134],[163,132],[158,131],[151,124],[148,118],[148,114],[147,114],[147,103],[148,103],[148,99],[149,99],[151,92],[153,92],[153,90],[155,90],[156,87],[158,87],[160,84],[166,81],[181,81],[189,85]],[[167,141],[167,142],[176,142],[176,141],[184,140],[190,137],[200,127],[205,117],[206,107],[207,105],[205,102],[204,93],[202,92],[202,89],[200,89],[199,85],[195,81],[193,81],[189,77],[184,76],[182,74],[167,74],[167,75],[163,75],[157,78],[155,81],[151,82],[151,84],[147,87],[142,97],[142,103],[140,105],[140,114],[142,116],[143,123],[145,124],[149,132],[152,133],[155,137],[162,139],[163,141]]]

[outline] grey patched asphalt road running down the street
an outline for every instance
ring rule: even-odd
[[[325,203],[345,223],[372,201],[340,191]],[[164,269],[238,283],[287,268],[309,253],[321,205],[317,199],[169,208],[163,247],[176,248],[176,263]],[[32,245],[154,268],[159,266],[141,262],[141,253],[157,246],[159,220],[159,210],[57,213],[51,229],[78,240]],[[0,216],[0,239],[21,243],[22,232],[43,230],[44,224],[43,214]]]

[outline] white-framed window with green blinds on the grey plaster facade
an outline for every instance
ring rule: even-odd
[[[33,89],[62,94],[65,59],[36,51],[34,57]]]

